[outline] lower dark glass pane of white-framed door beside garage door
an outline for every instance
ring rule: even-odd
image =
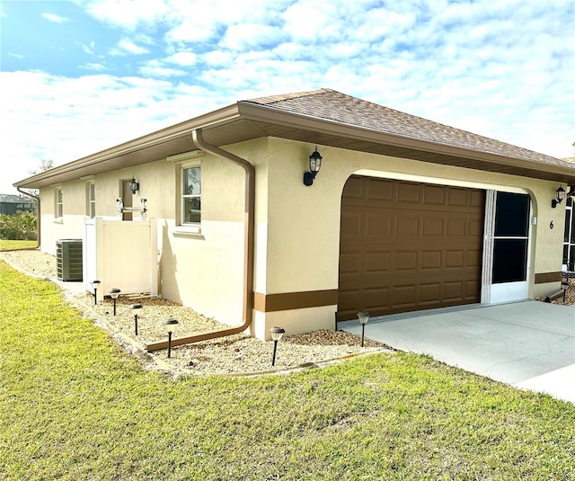
[[[493,283],[526,280],[527,239],[495,239]]]

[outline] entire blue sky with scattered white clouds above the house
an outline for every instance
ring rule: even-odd
[[[575,0],[0,0],[0,193],[317,88],[574,156],[574,85]]]

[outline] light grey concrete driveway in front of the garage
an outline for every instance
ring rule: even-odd
[[[357,321],[338,328],[361,334]],[[575,306],[525,301],[374,317],[366,337],[575,404]]]

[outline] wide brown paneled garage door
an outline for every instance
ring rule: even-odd
[[[479,302],[484,199],[475,189],[350,177],[338,320]]]

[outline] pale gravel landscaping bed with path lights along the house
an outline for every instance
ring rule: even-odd
[[[55,280],[57,276],[56,258],[40,251],[0,253],[0,259],[4,259],[28,275],[50,280]],[[66,282],[62,284],[66,288]],[[170,359],[167,359],[166,350],[142,354],[143,344],[167,341],[164,320],[170,317],[179,321],[173,328],[173,338],[227,327],[214,319],[200,316],[190,307],[183,307],[162,298],[122,296],[117,300],[116,316],[113,316],[113,301],[110,298],[94,306],[93,296],[84,293],[75,294],[66,289],[66,300],[77,307],[84,316],[94,319],[97,325],[110,331],[111,335],[129,351],[139,353],[144,361],[159,364],[165,370],[194,374],[249,374],[272,370],[273,342],[263,342],[246,334],[176,346],[172,349]],[[129,306],[136,302],[141,303],[143,307],[137,311],[130,309]],[[137,336],[134,319],[136,312]],[[360,344],[361,339],[358,336],[341,331],[316,331],[301,335],[287,333],[279,342],[273,369],[309,367],[362,353],[391,350],[383,343],[367,339],[364,348]]]

